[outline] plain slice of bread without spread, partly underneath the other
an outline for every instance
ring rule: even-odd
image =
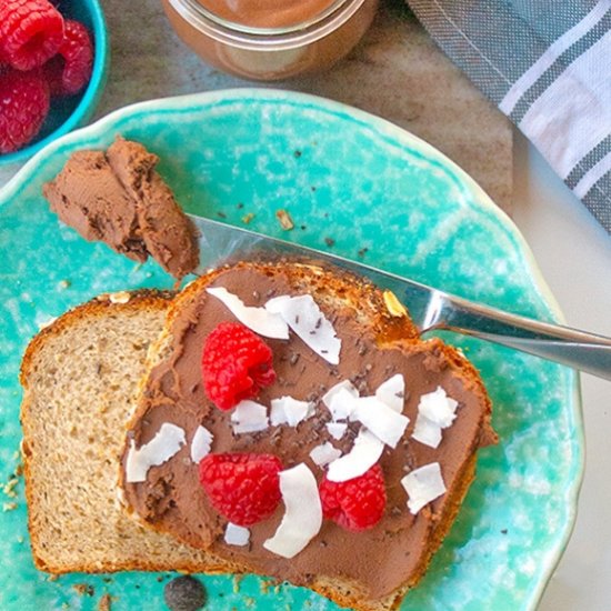
[[[43,571],[227,569],[210,553],[143,529],[117,499],[124,422],[170,298],[94,299],[42,330],[26,351],[26,494],[32,553]]]

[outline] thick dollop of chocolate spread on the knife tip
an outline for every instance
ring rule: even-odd
[[[153,257],[174,278],[199,263],[196,229],[154,170],[158,157],[117,138],[108,151],[77,151],[42,189],[51,210],[86,240],[144,262]]]

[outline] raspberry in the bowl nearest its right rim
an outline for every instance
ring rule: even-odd
[[[89,82],[92,66],[93,44],[87,28],[67,20],[58,54],[44,64],[51,96],[78,93]]]

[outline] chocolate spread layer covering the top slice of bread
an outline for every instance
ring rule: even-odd
[[[249,267],[223,271],[210,286],[222,286],[247,306],[256,307],[263,306],[274,296],[303,294],[303,291],[296,291],[286,274],[278,271],[266,274]],[[266,339],[273,351],[278,379],[257,399],[264,405],[282,395],[315,401],[315,415],[296,428],[270,427],[250,434],[233,434],[231,412],[217,409],[202,389],[200,362],[204,340],[217,324],[236,320],[234,317],[204,290],[180,310],[171,327],[169,355],[152,370],[139,407],[139,418],[128,433],[123,469],[130,441],[134,440],[136,447],[148,443],[164,422],[182,427],[188,443],[166,463],[152,467],[146,482],[123,482],[126,500],[153,528],[169,531],[197,548],[210,549],[252,572],[303,585],[317,574],[354,579],[365,584],[371,598],[381,598],[418,572],[435,522],[450,502],[447,493],[412,515],[407,508],[401,478],[417,467],[439,462],[451,491],[475,449],[495,440],[489,422],[490,405],[473,371],[465,373],[457,364],[460,358],[449,357],[439,340],[409,341],[402,348],[382,347],[379,338],[357,323],[351,308],[330,311],[323,303],[319,306],[341,339],[339,365],[330,365],[292,332],[288,341]],[[263,542],[273,535],[282,519],[283,504],[280,503],[270,519],[251,527],[248,547],[226,544],[227,520],[209,503],[199,483],[198,465],[190,459],[190,443],[198,425],[213,433],[212,452],[276,454],[287,469],[304,462],[320,481],[323,470],[310,459],[310,451],[324,441],[331,441],[343,452],[349,451],[359,424],[351,423],[341,441],[332,440],[324,427],[330,414],[321,397],[344,379],[351,380],[361,395],[373,394],[395,373],[404,375],[403,413],[410,418],[410,424],[397,449],[387,447],[380,459],[388,494],[382,520],[363,532],[349,532],[325,520],[306,549],[287,560],[263,548]],[[443,431],[441,444],[433,449],[410,435],[420,397],[439,385],[459,402],[459,408],[453,424]]]

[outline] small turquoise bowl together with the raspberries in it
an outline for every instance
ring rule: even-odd
[[[0,164],[84,123],[107,68],[97,0],[0,0]]]

